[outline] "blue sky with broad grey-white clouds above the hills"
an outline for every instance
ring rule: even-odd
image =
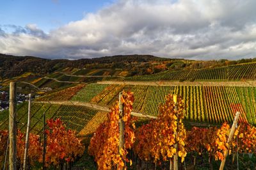
[[[255,58],[255,6],[255,0],[2,1],[0,53]]]

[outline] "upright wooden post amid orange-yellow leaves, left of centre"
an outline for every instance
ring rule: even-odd
[[[124,104],[122,102],[122,92],[119,93],[119,147],[118,147],[118,151],[119,154],[121,154],[121,150],[124,150],[124,120],[123,120],[123,116],[124,116]],[[125,161],[125,160],[124,160]]]

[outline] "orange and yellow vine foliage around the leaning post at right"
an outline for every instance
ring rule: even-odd
[[[256,128],[248,123],[239,123],[232,141],[227,143],[230,134],[230,125],[223,123],[220,128],[193,127],[188,131],[186,149],[190,153],[209,155],[211,159],[223,160],[225,153],[255,153],[256,151]],[[229,147],[229,150],[228,150]],[[195,161],[195,160],[194,160]],[[194,163],[195,164],[195,163]]]

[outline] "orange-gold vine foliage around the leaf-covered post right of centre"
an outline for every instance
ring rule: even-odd
[[[165,104],[159,106],[159,112],[161,113],[159,117],[138,128],[134,152],[141,160],[166,161],[175,155],[177,150],[174,144],[178,143],[179,157],[183,162],[187,153],[184,148],[186,130],[182,123],[184,104],[181,97],[177,100],[176,108],[173,96],[168,95]],[[175,135],[175,132],[177,132],[177,135]]]

